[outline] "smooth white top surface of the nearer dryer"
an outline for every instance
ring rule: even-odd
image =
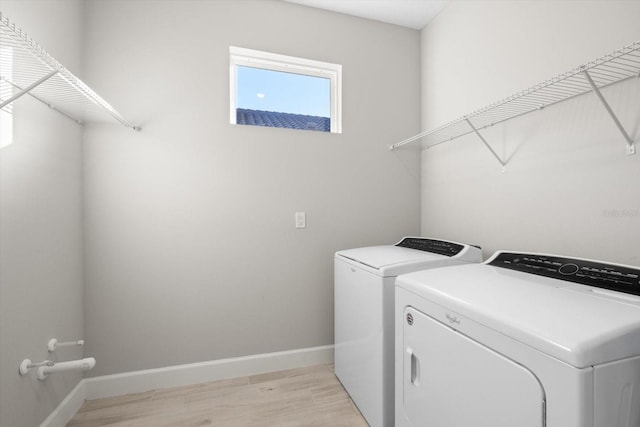
[[[640,297],[487,264],[399,276],[396,286],[572,366],[640,355]]]

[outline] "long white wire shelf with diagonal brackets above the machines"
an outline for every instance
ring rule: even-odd
[[[490,104],[470,114],[437,128],[419,133],[390,146],[391,150],[421,139],[425,148],[442,144],[464,135],[475,133],[504,166],[505,163],[491,149],[478,132],[498,123],[524,114],[541,110],[553,104],[574,98],[587,92],[595,92],[627,142],[627,153],[634,154],[634,141],[620,124],[602,96],[600,89],[633,78],[640,78],[640,41],[597,58],[580,67],[560,74],[501,101]]]

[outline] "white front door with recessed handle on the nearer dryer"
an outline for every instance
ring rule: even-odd
[[[522,365],[411,307],[403,335],[402,409],[411,425],[545,425],[544,390]]]

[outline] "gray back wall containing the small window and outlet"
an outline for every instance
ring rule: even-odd
[[[333,253],[419,231],[420,33],[278,1],[88,1],[92,375],[333,343]],[[234,126],[229,46],[343,65],[342,134]],[[307,228],[294,228],[294,212]]]

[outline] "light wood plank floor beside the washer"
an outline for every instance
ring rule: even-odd
[[[152,390],[82,405],[67,427],[367,427],[333,365]]]

